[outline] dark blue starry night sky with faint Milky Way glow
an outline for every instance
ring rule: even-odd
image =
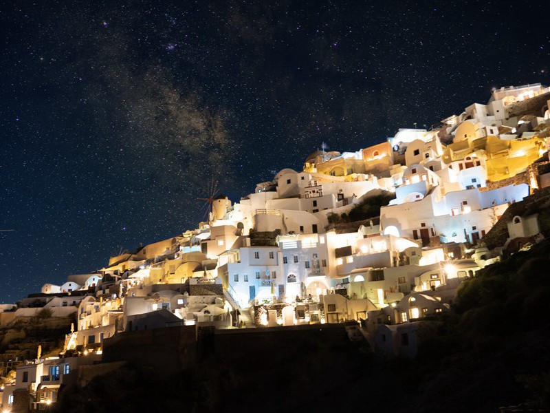
[[[326,142],[549,83],[545,1],[2,1],[0,302],[194,229]]]

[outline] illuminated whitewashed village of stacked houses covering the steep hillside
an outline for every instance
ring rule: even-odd
[[[1,408],[45,410],[78,372],[117,362],[124,337],[174,328],[194,340],[338,324],[380,357],[414,358],[464,279],[548,235],[549,106],[550,87],[501,87],[430,129],[315,151],[239,202],[212,189],[197,229],[2,304],[12,335],[66,330],[61,343],[4,338]]]

